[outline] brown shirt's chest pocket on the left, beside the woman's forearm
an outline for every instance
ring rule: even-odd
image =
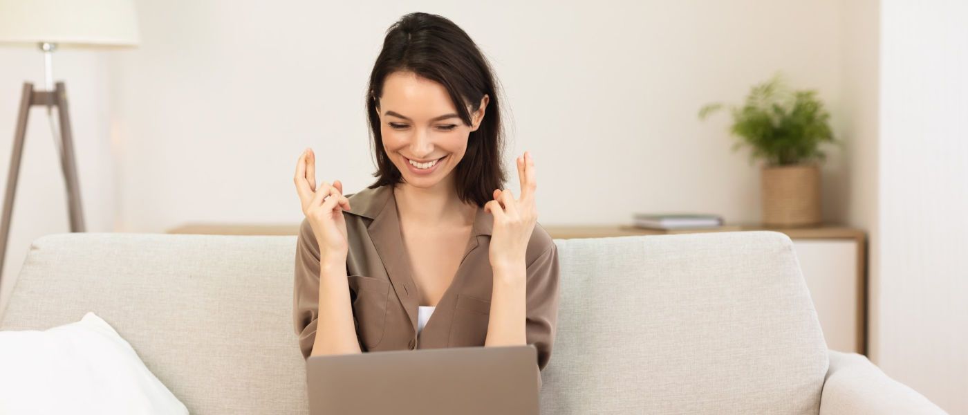
[[[356,335],[367,349],[372,348],[383,340],[390,282],[358,275],[348,276],[347,282]]]

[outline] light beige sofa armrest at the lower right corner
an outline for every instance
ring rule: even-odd
[[[861,354],[828,350],[828,355],[831,366],[824,378],[820,415],[947,414]]]

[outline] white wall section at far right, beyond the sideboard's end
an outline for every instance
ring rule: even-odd
[[[878,363],[968,413],[968,3],[881,19]]]

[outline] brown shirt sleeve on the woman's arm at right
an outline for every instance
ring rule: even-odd
[[[534,344],[538,354],[538,370],[548,366],[555,326],[558,322],[559,262],[558,246],[549,239],[549,246],[528,265],[528,299],[526,338]]]

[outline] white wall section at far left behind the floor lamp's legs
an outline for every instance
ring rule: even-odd
[[[74,131],[80,199],[88,231],[114,230],[117,215],[113,155],[109,136],[104,54],[62,49],[54,54],[54,79],[65,81]],[[0,47],[0,197],[7,191],[20,91],[24,81],[44,88],[44,58],[34,47]],[[57,116],[56,111],[53,113]],[[11,219],[7,257],[0,280],[0,313],[14,288],[30,242],[50,233],[69,232],[67,193],[46,110],[30,113]],[[2,203],[2,202],[0,202]],[[2,205],[0,205],[2,209]]]

